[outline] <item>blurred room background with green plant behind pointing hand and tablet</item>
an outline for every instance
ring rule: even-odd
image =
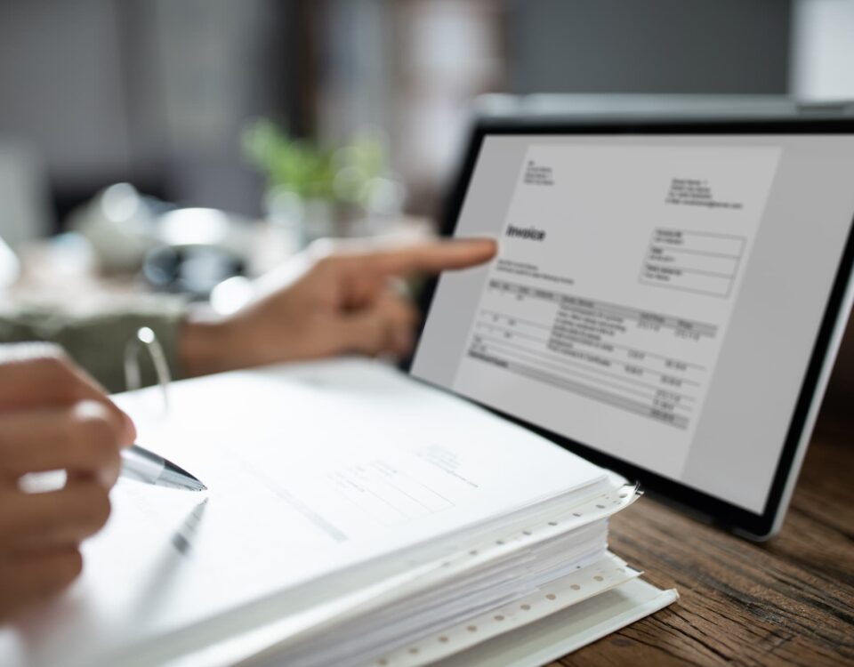
[[[496,95],[851,99],[852,35],[850,0],[0,0],[0,283],[207,298],[429,233]]]

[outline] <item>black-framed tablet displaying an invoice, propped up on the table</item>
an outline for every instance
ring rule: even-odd
[[[482,121],[410,374],[740,534],[785,515],[847,322],[850,119]],[[524,470],[514,471],[524,474]]]

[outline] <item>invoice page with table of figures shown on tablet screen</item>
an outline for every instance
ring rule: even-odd
[[[529,146],[453,389],[679,478],[780,153]]]

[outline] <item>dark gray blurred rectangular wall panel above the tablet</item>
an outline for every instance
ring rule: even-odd
[[[787,0],[510,0],[510,91],[787,92]]]

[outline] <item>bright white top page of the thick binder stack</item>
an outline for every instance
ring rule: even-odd
[[[178,382],[163,423],[145,416],[157,401],[118,397],[140,444],[209,491],[120,481],[82,580],[0,637],[0,662],[147,663],[194,647],[194,623],[219,617],[210,627],[227,633],[307,609],[439,558],[455,531],[608,486],[543,438],[368,361]]]

